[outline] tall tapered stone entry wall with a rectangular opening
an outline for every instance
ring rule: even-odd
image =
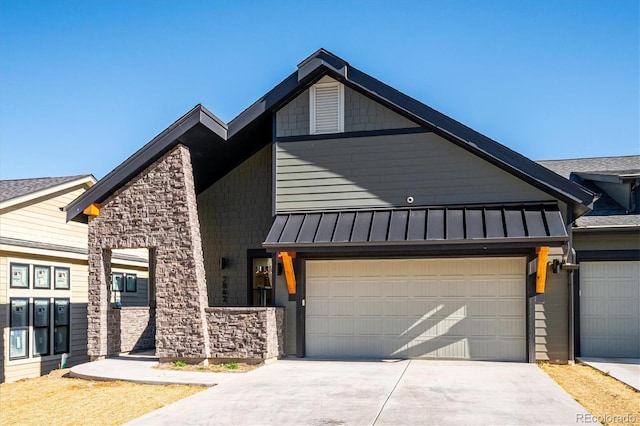
[[[156,248],[156,355],[210,358],[200,224],[191,156],[183,145],[132,178],[89,219],[90,356],[110,355],[117,346],[108,344],[107,332],[111,251],[150,247]]]

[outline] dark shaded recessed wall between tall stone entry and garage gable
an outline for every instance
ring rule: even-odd
[[[248,304],[247,249],[262,248],[272,222],[271,153],[269,144],[198,196],[209,306]]]

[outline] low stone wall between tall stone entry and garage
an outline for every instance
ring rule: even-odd
[[[284,308],[207,308],[212,358],[258,361],[284,352]]]

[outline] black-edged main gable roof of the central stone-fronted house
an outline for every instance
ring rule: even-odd
[[[591,208],[594,199],[591,191],[359,71],[332,53],[319,49],[301,62],[297,71],[228,124],[202,105],[194,107],[67,206],[67,220],[86,221],[82,212],[88,205],[103,202],[129,179],[179,143],[186,145],[191,152],[196,192],[204,191],[246,158],[271,143],[273,113],[324,75],[331,76],[566,202],[572,207],[576,217]]]

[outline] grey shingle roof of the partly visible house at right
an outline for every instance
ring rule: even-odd
[[[538,164],[600,195],[593,205],[593,210],[575,221],[576,231],[631,228],[637,232],[640,228],[640,212],[628,213],[594,183],[622,183],[626,180],[640,179],[640,155],[545,160],[538,161]]]

